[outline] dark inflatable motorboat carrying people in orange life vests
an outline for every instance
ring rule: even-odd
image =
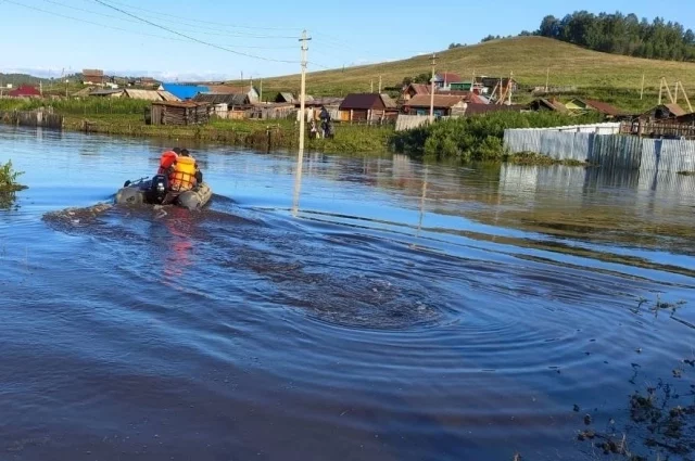
[[[206,182],[195,188],[173,192],[168,188],[168,179],[164,175],[156,175],[152,179],[140,178],[126,181],[116,192],[115,203],[122,205],[177,205],[187,209],[202,208],[210,202],[213,191]]]

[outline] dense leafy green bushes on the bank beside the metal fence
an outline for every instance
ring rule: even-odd
[[[599,121],[597,115],[570,117],[549,112],[498,112],[484,116],[439,121],[410,131],[396,132],[393,145],[397,152],[417,158],[455,158],[465,162],[514,161],[526,164],[548,163],[542,156],[509,156],[503,146],[508,128],[544,128]]]

